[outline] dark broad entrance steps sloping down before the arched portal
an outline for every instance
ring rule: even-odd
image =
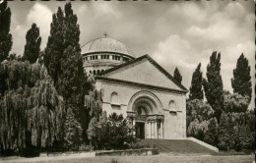
[[[163,153],[217,153],[216,150],[206,147],[191,139],[142,139],[139,143],[155,146]]]

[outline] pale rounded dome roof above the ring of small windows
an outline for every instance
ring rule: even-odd
[[[114,52],[125,54],[135,58],[132,51],[127,48],[122,42],[113,38],[96,38],[81,47],[82,54],[96,52]]]

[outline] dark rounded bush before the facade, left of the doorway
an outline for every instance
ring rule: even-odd
[[[91,143],[96,149],[125,149],[136,140],[132,133],[133,128],[127,119],[116,113],[107,118],[106,112],[103,112],[98,122],[93,119],[88,130]]]

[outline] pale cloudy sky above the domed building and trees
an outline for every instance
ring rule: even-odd
[[[8,2],[12,11],[12,51],[22,55],[26,32],[35,23],[45,48],[52,14],[65,2]],[[243,53],[255,74],[254,2],[249,1],[75,1],[81,46],[92,39],[108,37],[129,47],[136,57],[149,54],[169,74],[175,67],[189,89],[199,63],[205,77],[213,51],[222,54],[224,89],[232,92],[232,71]],[[255,79],[252,78],[253,85]],[[254,89],[254,88],[253,88]],[[253,92],[254,94],[254,92]]]

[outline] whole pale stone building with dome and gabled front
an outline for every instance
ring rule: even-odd
[[[139,138],[186,137],[187,89],[149,55],[136,58],[123,43],[103,37],[82,47],[84,68],[104,91],[102,110],[127,117]]]

